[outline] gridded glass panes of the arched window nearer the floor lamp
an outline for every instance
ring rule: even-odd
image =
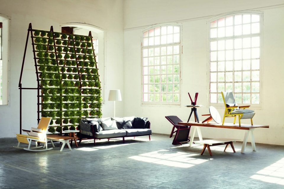
[[[142,103],[180,104],[180,25],[142,32]]]

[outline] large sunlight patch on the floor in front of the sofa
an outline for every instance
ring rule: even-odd
[[[172,150],[158,150],[149,153],[139,154],[138,156],[131,156],[129,158],[143,162],[167,165],[171,167],[188,168],[196,164],[201,164],[208,161],[207,159],[199,159],[192,157],[198,155],[199,154],[176,152]]]

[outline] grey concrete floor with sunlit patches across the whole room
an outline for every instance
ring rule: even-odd
[[[0,188],[284,188],[284,146],[241,142],[213,146],[174,146],[168,135],[135,140],[84,141],[72,151],[30,152],[12,148],[15,138],[0,139]]]

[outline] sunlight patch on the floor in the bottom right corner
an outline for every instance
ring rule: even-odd
[[[250,178],[284,185],[284,158],[256,172],[256,174],[252,175]]]

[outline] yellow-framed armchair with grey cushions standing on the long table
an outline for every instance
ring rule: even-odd
[[[238,104],[235,102],[233,92],[221,93],[225,105],[225,113],[223,116],[222,125],[224,125],[225,118],[227,117],[234,117],[234,124],[236,123],[236,118],[238,117],[239,126],[241,126],[241,119],[251,119],[251,125],[253,125],[252,118],[254,117],[255,112],[253,110],[246,109],[250,106],[238,106]]]

